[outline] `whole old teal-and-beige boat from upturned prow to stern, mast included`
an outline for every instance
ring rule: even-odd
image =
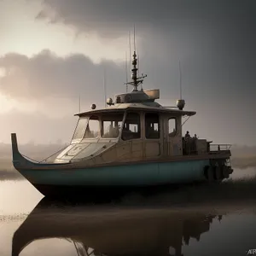
[[[195,115],[185,101],[164,107],[160,90],[143,90],[147,75],[131,69],[131,92],[108,98],[79,117],[70,144],[54,160],[34,161],[20,154],[11,134],[13,165],[43,195],[81,195],[92,191],[154,188],[172,184],[218,183],[230,177],[230,145],[183,136],[183,123]],[[141,85],[141,89],[139,89]],[[183,118],[186,120],[183,121]],[[104,194],[102,194],[104,195]]]

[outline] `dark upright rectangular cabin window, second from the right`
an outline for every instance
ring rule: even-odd
[[[158,113],[145,114],[145,137],[147,139],[160,138],[160,120]]]

